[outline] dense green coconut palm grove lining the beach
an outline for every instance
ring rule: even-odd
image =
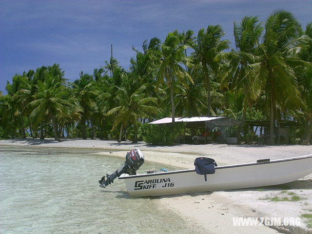
[[[151,142],[157,134],[183,131],[177,123],[167,130],[147,125],[155,119],[227,116],[240,120],[231,130],[238,143],[247,141],[245,120],[270,120],[268,144],[274,144],[275,120],[290,120],[300,124],[290,143],[309,144],[312,22],[302,26],[286,11],[274,11],[265,22],[246,16],[234,21],[232,50],[225,33],[221,25],[207,25],[142,39],[128,70],[111,54],[74,82],[58,63],[16,74],[7,94],[0,93],[0,138]],[[257,137],[255,129],[251,134]]]

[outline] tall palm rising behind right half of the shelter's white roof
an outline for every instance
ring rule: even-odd
[[[193,46],[195,59],[200,61],[204,77],[204,87],[208,93],[207,116],[210,116],[211,109],[211,82],[210,73],[216,73],[219,63],[217,55],[229,48],[229,40],[221,40],[225,35],[220,25],[209,25],[205,31],[199,30],[197,43]]]

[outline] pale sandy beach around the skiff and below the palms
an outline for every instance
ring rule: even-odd
[[[0,140],[0,146],[59,147],[97,149],[95,154],[124,157],[126,152],[139,148],[146,160],[180,168],[194,168],[198,156],[212,157],[218,165],[255,162],[257,159],[287,158],[312,154],[312,146],[257,145],[174,145],[150,146],[145,142],[131,143],[106,140],[53,139]],[[100,150],[100,152],[98,151]],[[296,201],[274,201],[273,197],[291,197]],[[180,215],[187,224],[203,233],[312,233],[301,218],[300,227],[233,226],[233,217],[300,217],[312,213],[312,174],[280,186],[233,190],[213,193],[194,193],[153,198],[160,206]]]

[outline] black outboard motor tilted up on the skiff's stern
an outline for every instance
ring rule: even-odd
[[[139,149],[133,149],[126,155],[126,161],[114,172],[112,175],[106,174],[98,182],[99,187],[105,188],[107,185],[113,183],[114,179],[121,174],[137,175],[137,170],[144,163],[144,155]]]

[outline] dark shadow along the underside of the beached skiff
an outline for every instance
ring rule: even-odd
[[[273,186],[265,186],[265,187],[254,187],[254,188],[246,188],[246,189],[233,189],[233,190],[224,190],[223,192],[231,193],[231,192],[248,192],[248,191],[282,191],[282,190],[301,190],[301,189],[312,189],[312,179],[299,179],[296,181],[292,181],[286,184],[279,184]],[[187,193],[187,194],[176,194],[176,195],[163,195],[163,196],[145,196],[145,197],[134,197],[130,196],[126,191],[102,191],[103,193],[117,193],[117,198],[124,199],[136,199],[136,198],[145,198],[145,199],[159,199],[164,197],[179,197],[179,196],[198,196],[198,195],[211,195],[214,192],[202,192],[202,193]]]

